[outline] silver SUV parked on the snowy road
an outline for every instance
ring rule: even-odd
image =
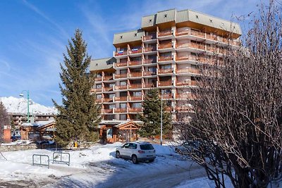
[[[134,164],[139,161],[153,162],[156,150],[149,142],[128,142],[116,149],[116,158],[128,158]]]

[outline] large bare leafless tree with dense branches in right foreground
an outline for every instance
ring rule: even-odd
[[[267,187],[282,180],[282,19],[274,1],[262,5],[239,48],[222,64],[202,68],[194,115],[180,123],[194,140],[188,155],[216,187]]]

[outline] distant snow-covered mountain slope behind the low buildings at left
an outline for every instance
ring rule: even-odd
[[[13,96],[0,97],[0,101],[2,101],[8,113],[27,113],[27,99],[25,98],[16,98]],[[30,114],[32,112],[34,114],[57,113],[56,108],[46,107],[30,100]]]

